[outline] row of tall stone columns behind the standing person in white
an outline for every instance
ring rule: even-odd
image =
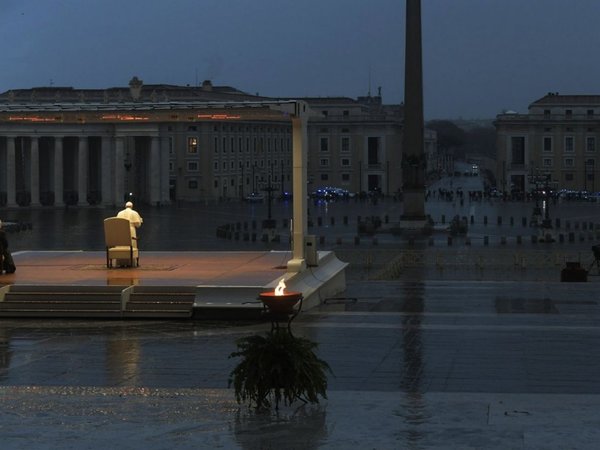
[[[136,150],[135,139],[147,148]],[[0,206],[120,205],[129,191],[145,203],[167,204],[167,144],[152,135],[0,133]],[[126,158],[141,169],[130,174]]]

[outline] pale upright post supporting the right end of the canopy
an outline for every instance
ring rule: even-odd
[[[293,186],[293,230],[292,259],[287,263],[288,272],[306,269],[304,237],[308,229],[307,195],[307,119],[297,115],[292,119],[292,186]]]

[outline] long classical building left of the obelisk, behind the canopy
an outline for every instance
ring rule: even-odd
[[[296,100],[312,110],[311,186],[401,188],[401,106],[383,105],[380,95]],[[0,94],[0,206],[118,205],[127,197],[157,205],[291,191],[292,125],[265,110],[269,101],[286,99],[136,77],[123,88]]]

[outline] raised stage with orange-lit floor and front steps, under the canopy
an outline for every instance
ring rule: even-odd
[[[258,320],[258,294],[284,278],[303,308],[345,289],[346,263],[318,252],[292,274],[290,252],[142,252],[140,267],[108,269],[104,252],[24,251],[0,275],[0,318]]]

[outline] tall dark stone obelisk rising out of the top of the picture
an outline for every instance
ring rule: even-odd
[[[425,146],[421,0],[406,0],[404,61],[404,135],[402,139],[402,229],[423,229],[425,217]]]

